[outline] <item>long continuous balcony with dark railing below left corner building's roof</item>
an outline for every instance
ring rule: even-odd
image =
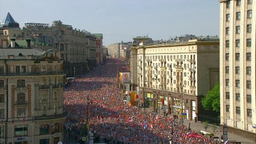
[[[61,71],[47,71],[47,72],[26,72],[26,73],[16,73],[16,72],[4,72],[0,76],[32,76],[32,75],[54,75],[54,74],[65,74],[63,70]]]

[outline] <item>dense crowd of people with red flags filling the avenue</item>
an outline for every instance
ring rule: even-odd
[[[64,110],[69,119],[85,122],[88,97],[89,125],[96,131],[95,136],[124,144],[169,144],[171,140],[173,144],[218,144],[186,128],[179,119],[123,103],[117,86],[117,69],[127,72],[124,62],[108,59],[105,65],[94,68],[64,88]],[[78,124],[76,128],[84,126]]]

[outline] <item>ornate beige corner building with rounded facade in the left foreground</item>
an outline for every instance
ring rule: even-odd
[[[0,137],[4,144],[63,141],[63,60],[57,49],[0,48]],[[24,117],[23,117],[24,116]]]

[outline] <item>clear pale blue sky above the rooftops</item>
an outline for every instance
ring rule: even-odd
[[[2,0],[0,21],[7,12],[22,27],[61,20],[102,33],[106,46],[147,34],[153,40],[219,35],[219,0]]]

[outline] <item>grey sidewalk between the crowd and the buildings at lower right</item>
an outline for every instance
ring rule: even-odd
[[[171,115],[168,115],[168,116],[171,116]],[[178,118],[180,119],[180,117],[178,117]],[[221,132],[219,132],[220,131],[220,127],[219,126],[216,126],[216,130],[218,132],[216,132],[216,130],[215,130],[215,132],[213,132],[213,125],[209,124],[207,130],[205,130],[204,129],[205,124],[200,122],[200,121],[194,122],[194,121],[189,121],[187,119],[184,119],[183,121],[184,121],[183,124],[185,126],[187,126],[187,128],[189,127],[189,122],[190,122],[191,130],[194,130],[194,131],[197,131],[197,132],[200,132],[200,130],[206,131],[208,133],[213,133],[214,136],[217,136],[219,138],[221,137],[221,135],[223,135],[223,131],[222,130],[221,130]],[[241,142],[241,144],[255,144],[255,142],[252,141],[252,140],[249,140],[249,139],[247,139],[245,137],[241,137],[239,135],[235,135],[235,134],[230,133],[230,132],[228,132],[228,140],[236,141],[236,142]]]

